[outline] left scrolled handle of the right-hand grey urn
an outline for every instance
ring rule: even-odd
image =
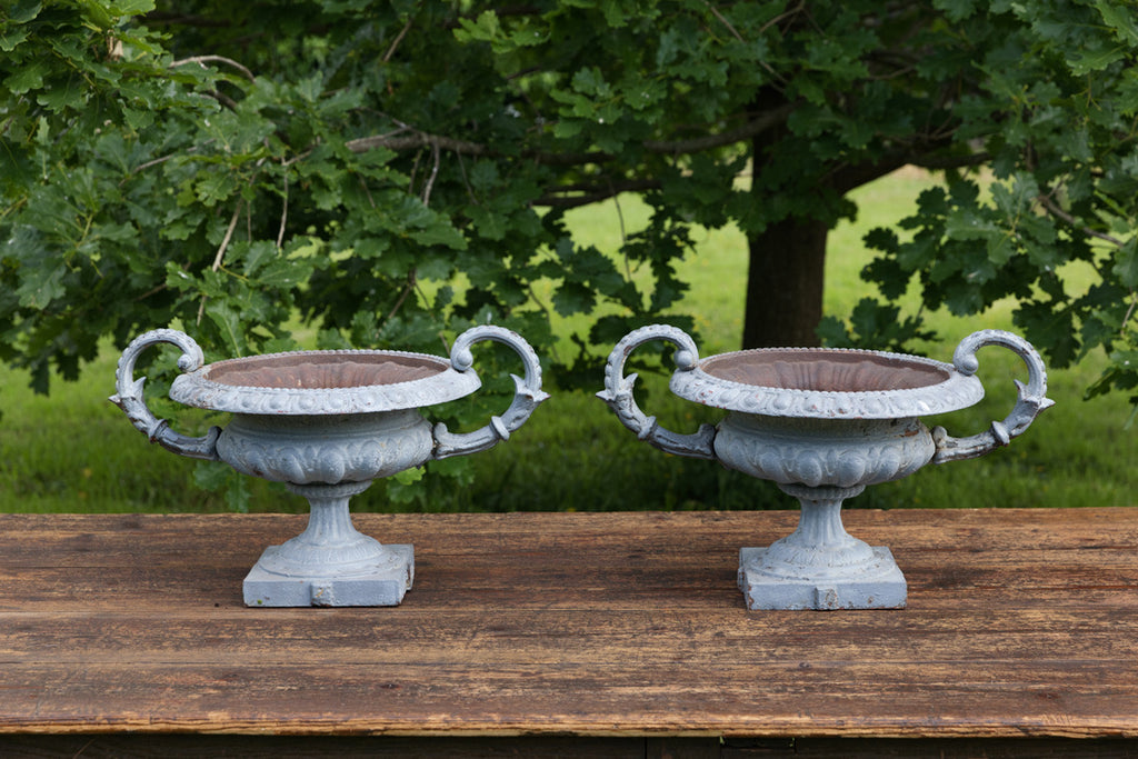
[[[676,346],[676,371],[687,372],[699,363],[695,343],[682,329],[667,324],[651,324],[633,330],[609,354],[604,366],[604,390],[596,397],[604,401],[625,427],[636,432],[636,437],[667,453],[692,459],[715,459],[715,427],[701,424],[692,435],[678,435],[657,423],[655,416],[645,416],[633,397],[636,374],[624,376],[625,362],[638,346],[651,340],[667,340]]]

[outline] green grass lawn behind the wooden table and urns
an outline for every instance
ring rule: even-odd
[[[860,215],[830,238],[826,270],[828,313],[843,314],[871,294],[858,272],[869,261],[861,236],[891,225],[915,203],[930,181],[901,172],[861,188]],[[621,230],[645,220],[635,198],[575,212],[572,223],[602,250],[615,250]],[[682,264],[692,284],[688,303],[696,314],[701,354],[739,346],[742,333],[747,247],[737,230],[703,231],[694,255]],[[1079,272],[1072,272],[1078,277]],[[906,302],[912,310],[915,302]],[[580,328],[588,317],[559,323]],[[983,328],[1012,329],[1011,305],[968,319],[937,314],[931,320],[942,340],[923,346],[941,361],[965,335]],[[50,397],[27,389],[26,374],[0,368],[0,510],[31,512],[224,511],[224,500],[199,487],[196,463],[147,444],[123,414],[106,401],[114,391],[117,355],[108,348],[85,368],[76,383],[56,382]],[[1014,401],[1013,377],[1022,364],[996,348],[980,354],[988,397],[945,419],[957,436],[1003,419]],[[1019,364],[1019,365],[1017,365]],[[1055,407],[1005,449],[973,461],[927,467],[901,480],[869,488],[851,508],[1091,506],[1132,505],[1138,486],[1138,432],[1123,429],[1129,405],[1122,396],[1082,401],[1082,391],[1104,365],[1091,356],[1082,365],[1049,372]],[[602,365],[596,366],[601,388]],[[645,412],[676,431],[716,421],[715,412],[671,396],[667,378],[644,377]],[[636,438],[586,391],[556,389],[553,398],[509,443],[467,460],[468,479],[428,476],[430,511],[461,510],[617,510],[790,508],[793,501],[769,482],[752,480],[714,462],[666,455]],[[251,511],[304,511],[304,502],[279,486],[250,481]],[[393,506],[381,484],[353,501],[357,510]],[[415,506],[419,508],[419,506]]]

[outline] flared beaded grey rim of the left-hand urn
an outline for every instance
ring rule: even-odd
[[[180,374],[188,406],[245,414],[324,415],[419,409],[470,395],[478,374],[404,350],[291,350],[228,358]]]

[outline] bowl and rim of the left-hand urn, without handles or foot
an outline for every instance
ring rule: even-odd
[[[450,361],[393,350],[327,350],[231,358],[180,374],[170,396],[231,412],[217,457],[244,475],[307,485],[396,475],[431,456],[420,407],[478,389]]]

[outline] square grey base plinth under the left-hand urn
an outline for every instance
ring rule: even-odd
[[[346,577],[286,577],[262,569],[245,578],[247,607],[397,607],[414,580],[411,545],[385,544],[398,561],[373,572]]]

